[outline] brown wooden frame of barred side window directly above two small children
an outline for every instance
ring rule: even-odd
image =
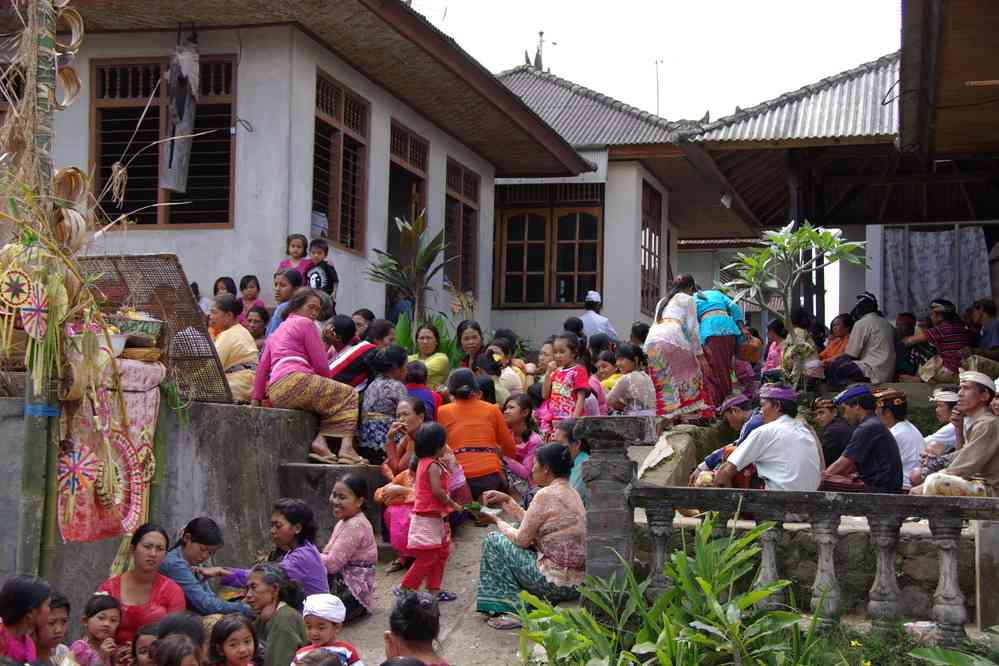
[[[327,210],[329,213],[326,216],[327,227],[327,240],[329,240],[338,249],[349,252],[350,254],[355,254],[357,256],[363,257],[365,250],[365,240],[367,238],[367,227],[368,227],[368,176],[370,173],[370,157],[371,157],[371,103],[357,94],[344,84],[337,81],[335,78],[329,76],[325,72],[318,71],[316,73],[316,88],[325,81],[329,85],[334,86],[339,89],[340,101],[338,108],[335,113],[338,115],[330,115],[326,110],[320,107],[320,100],[317,97],[315,103],[315,119],[316,121],[323,122],[329,125],[334,130],[340,133],[340,138],[336,141],[335,149],[339,151],[336,160],[336,177],[333,178],[334,174],[330,174],[331,182],[329,183],[330,190],[330,200],[327,202]],[[350,99],[352,102],[364,107],[365,121],[364,121],[364,133],[358,132],[356,128],[351,127],[343,118],[344,109],[346,108],[346,101]],[[339,116],[339,117],[338,117]],[[313,131],[315,132],[315,125],[313,125]],[[358,200],[358,224],[355,230],[355,242],[354,246],[351,247],[340,241],[340,229],[343,223],[343,154],[344,154],[344,141],[343,136],[347,136],[352,141],[359,143],[362,146],[362,155],[360,157],[360,163],[364,170],[360,178],[360,187],[357,193]],[[316,137],[313,135],[312,146],[315,150]],[[331,149],[334,146],[331,145]],[[313,168],[315,168],[315,154],[313,153]],[[315,175],[313,175],[315,179]],[[315,185],[313,184],[313,196],[315,196]]]

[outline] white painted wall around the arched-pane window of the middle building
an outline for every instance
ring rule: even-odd
[[[642,225],[642,181],[648,181],[663,196],[663,221],[669,230],[670,242],[674,244],[670,260],[675,261],[676,230],[669,225],[669,193],[655,176],[638,162],[607,163],[606,153],[599,155],[583,153],[598,165],[606,165],[606,185],[604,188],[604,229],[603,229],[603,286],[601,295],[604,301],[603,315],[611,320],[618,335],[627,339],[631,324],[635,321],[650,322],[641,312],[641,225]],[[603,168],[603,167],[601,167]],[[575,179],[559,179],[559,182],[580,182]],[[500,183],[506,180],[498,181]],[[528,182],[542,182],[528,181]],[[667,270],[662,270],[665,293]],[[496,327],[512,328],[538,344],[549,335],[562,330],[562,323],[569,317],[579,315],[582,309],[545,310],[496,310],[493,321]]]

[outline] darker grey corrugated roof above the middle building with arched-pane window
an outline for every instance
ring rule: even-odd
[[[699,127],[684,120],[670,122],[530,65],[496,77],[577,148],[668,143],[678,130]]]

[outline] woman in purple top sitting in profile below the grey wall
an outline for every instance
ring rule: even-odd
[[[330,591],[326,568],[316,548],[317,530],[315,515],[302,500],[285,497],[274,503],[271,510],[274,550],[267,561],[280,562],[288,577],[300,583],[306,595],[327,594]],[[249,573],[246,569],[230,569],[222,577],[222,584],[246,587]]]

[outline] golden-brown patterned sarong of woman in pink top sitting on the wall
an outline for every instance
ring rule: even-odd
[[[293,372],[267,387],[271,404],[319,415],[319,434],[345,437],[357,428],[357,392],[346,384],[305,372]]]

